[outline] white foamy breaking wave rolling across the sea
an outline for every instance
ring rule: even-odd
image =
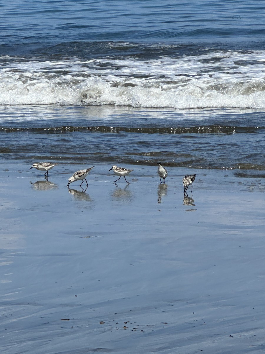
[[[265,108],[265,51],[1,65],[0,104]]]

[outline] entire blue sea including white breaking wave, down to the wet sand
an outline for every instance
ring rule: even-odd
[[[264,177],[263,2],[16,0],[0,10],[2,164],[161,161]]]

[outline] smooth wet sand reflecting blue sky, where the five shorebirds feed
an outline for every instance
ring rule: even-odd
[[[264,179],[0,162],[2,353],[264,350]]]

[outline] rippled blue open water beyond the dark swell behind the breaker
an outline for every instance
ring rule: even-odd
[[[218,41],[264,39],[263,1],[6,1],[5,45],[71,41]]]

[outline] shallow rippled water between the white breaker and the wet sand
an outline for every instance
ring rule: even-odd
[[[263,112],[2,107],[1,159],[192,169],[265,169]]]

